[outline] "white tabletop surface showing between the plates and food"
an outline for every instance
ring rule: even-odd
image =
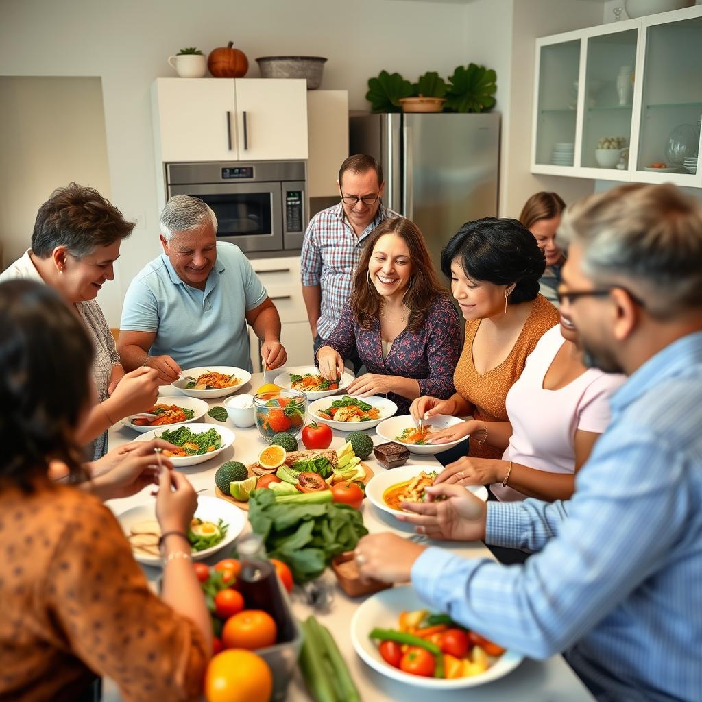
[[[281,370],[270,371],[266,374],[268,378],[276,376]],[[264,380],[263,373],[253,373],[251,380],[246,385],[237,390],[237,393],[255,393],[256,388],[269,382]],[[162,396],[178,396],[180,391],[173,386],[166,385],[159,390],[159,395]],[[208,405],[223,406],[226,398],[219,397],[208,400]],[[307,417],[307,421],[312,418]],[[205,415],[204,418],[198,420],[212,424],[214,426],[226,426],[234,432],[235,439],[232,446],[214,456],[205,463],[194,465],[190,468],[181,468],[180,472],[190,480],[194,489],[199,491],[199,494],[215,496],[215,472],[225,463],[225,461],[240,461],[245,465],[249,465],[257,461],[258,454],[261,449],[267,446],[267,442],[261,437],[256,426],[249,428],[237,428],[230,419],[225,422],[219,422]],[[339,449],[345,443],[345,436],[348,432],[332,430],[333,439],[331,448]],[[385,439],[378,437],[374,429],[366,430],[366,434],[373,438],[373,444],[383,443]],[[110,428],[108,433],[108,449],[114,449],[121,444],[126,444],[133,441],[139,436],[138,432],[128,428],[121,423],[115,424]],[[300,449],[303,449],[300,441]],[[376,461],[373,454],[366,459],[365,463],[369,465],[375,475],[386,470]],[[406,465],[430,465],[435,470],[441,469],[441,464],[434,456],[417,456],[411,454]],[[127,510],[139,506],[147,505],[154,502],[152,490],[145,488],[139,494],[119,500],[111,500],[107,502],[107,506],[119,518],[119,515]],[[400,534],[407,538],[417,538],[413,534],[413,529],[410,525],[398,522],[392,515],[378,510],[366,498],[360,508],[363,521],[366,529],[373,534],[382,531],[390,531],[395,534]],[[249,522],[246,522],[246,527],[242,534],[250,531]],[[457,542],[457,541],[428,541],[425,537],[423,543],[446,548],[451,552],[456,553],[465,558],[489,558],[494,559],[488,548],[481,542]],[[218,554],[209,557],[205,562],[215,564],[218,560],[229,557],[230,549],[225,548]],[[157,589],[157,583],[161,576],[161,569],[158,567],[142,566],[147,580],[154,590]],[[592,700],[592,695],[583,685],[581,680],[576,676],[573,670],[566,663],[560,654],[550,656],[545,660],[535,660],[525,657],[515,670],[512,670],[508,675],[487,682],[486,684],[470,687],[466,689],[455,689],[446,691],[426,690],[421,687],[416,687],[412,684],[406,684],[391,680],[378,671],[373,670],[356,654],[353,647],[350,635],[350,622],[355,613],[355,610],[366,599],[365,597],[348,597],[343,590],[336,584],[336,578],[331,569],[327,569],[322,575],[325,583],[329,584],[329,591],[333,595],[331,604],[326,609],[314,609],[310,604],[307,604],[307,599],[301,588],[293,589],[291,593],[291,603],[293,614],[300,620],[304,620],[310,614],[314,614],[317,620],[326,625],[333,634],[341,655],[343,656],[350,674],[357,685],[359,695],[362,700],[367,702],[392,702],[402,700],[403,702],[426,702],[430,695],[437,702],[465,702],[470,699],[471,702],[506,702],[510,700],[518,700],[519,702],[581,702]],[[372,596],[372,595],[371,595]],[[524,652],[528,656],[528,651]],[[290,682],[287,694],[289,702],[308,701],[312,699],[305,687],[303,678],[299,670],[293,675]],[[104,680],[102,686],[102,700],[104,702],[118,702],[121,700],[119,689],[112,680]]]

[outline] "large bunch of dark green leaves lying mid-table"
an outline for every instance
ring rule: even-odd
[[[340,503],[277,503],[270,490],[249,499],[249,522],[271,558],[288,564],[297,583],[316,578],[334,556],[356,548],[368,534],[358,510]]]

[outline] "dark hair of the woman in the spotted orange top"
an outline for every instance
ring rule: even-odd
[[[0,283],[0,488],[32,491],[50,461],[86,477],[74,432],[90,397],[93,347],[53,289]]]

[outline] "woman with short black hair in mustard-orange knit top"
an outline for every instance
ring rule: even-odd
[[[411,413],[416,420],[472,415],[432,435],[432,443],[470,436],[468,455],[501,458],[504,448],[498,446],[511,434],[507,392],[543,333],[558,323],[556,308],[538,294],[543,251],[517,220],[485,217],[461,227],[441,263],[465,319],[463,352],[453,374],[456,393],[447,400],[420,397]]]

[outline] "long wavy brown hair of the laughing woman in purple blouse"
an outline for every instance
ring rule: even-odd
[[[423,326],[432,303],[437,298],[449,300],[449,291],[439,283],[434,270],[427,245],[419,227],[404,217],[392,217],[383,220],[370,234],[361,254],[354,274],[350,306],[354,317],[363,329],[373,328],[373,321],[380,312],[380,294],[368,278],[368,265],[373,256],[373,249],[380,237],[385,234],[397,234],[404,239],[409,249],[412,262],[411,284],[404,295],[404,303],[409,307],[407,329],[416,333]]]

